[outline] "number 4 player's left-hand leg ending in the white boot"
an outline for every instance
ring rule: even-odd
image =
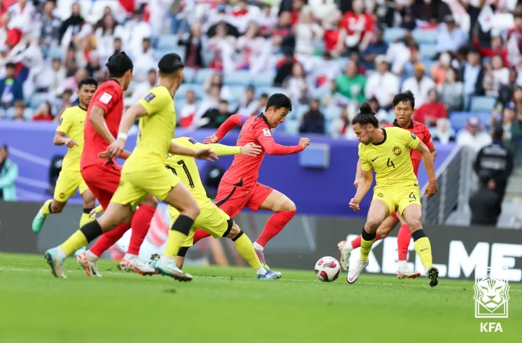
[[[361,251],[355,265],[350,265],[346,281],[354,283],[368,265],[368,256],[371,246],[375,242],[376,232],[379,226],[393,211],[395,205],[392,194],[384,190],[373,190],[373,200],[368,210],[366,224],[361,232]]]

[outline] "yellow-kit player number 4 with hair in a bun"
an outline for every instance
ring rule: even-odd
[[[378,124],[375,113],[367,102],[362,104],[360,113],[352,120],[352,128],[361,142],[359,160],[362,178],[355,197],[350,201],[350,208],[359,211],[359,203],[368,193],[373,181],[372,169],[376,172],[376,186],[373,188],[373,199],[361,234],[361,254],[359,260],[350,265],[346,281],[357,281],[368,265],[368,255],[375,242],[377,228],[397,210],[411,230],[415,251],[423,262],[430,286],[437,286],[439,271],[432,265],[430,239],[423,230],[420,190],[409,154],[411,148],[422,156],[430,180],[425,195],[432,197],[437,193],[437,177],[430,149],[408,130],[401,127],[379,129]]]

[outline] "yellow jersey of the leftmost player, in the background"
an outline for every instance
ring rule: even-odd
[[[81,153],[83,152],[83,128],[87,110],[80,106],[69,107],[60,117],[60,125],[56,132],[63,132],[70,139],[74,139],[78,146],[68,148],[67,154],[62,162],[62,169],[80,171]]]

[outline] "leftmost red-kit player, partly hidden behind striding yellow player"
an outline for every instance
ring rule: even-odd
[[[112,161],[107,163],[106,158],[99,158],[99,154],[107,151],[109,145],[116,141],[118,127],[123,116],[123,91],[127,90],[132,80],[132,61],[125,52],[113,55],[107,68],[109,80],[103,83],[95,94],[88,107],[88,120],[85,120],[85,148],[81,157],[81,174],[85,183],[95,195],[104,209],[107,209],[112,195],[120,183],[121,166]],[[130,153],[125,152],[121,158],[127,158]],[[120,262],[123,269],[130,269],[140,274],[153,274],[153,268],[139,260],[139,247],[146,236],[152,217],[156,211],[157,201],[148,196],[139,206],[134,216],[130,216],[125,223],[114,230],[104,233],[96,243],[85,253],[77,256],[76,260],[88,276],[100,276],[96,261],[110,246],[130,229],[132,221],[132,237],[128,248]],[[116,240],[115,240],[116,239]]]

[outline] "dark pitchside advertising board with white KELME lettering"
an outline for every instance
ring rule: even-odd
[[[31,222],[38,209],[38,204],[0,202],[0,251],[43,253],[78,229],[81,207],[71,205],[62,214],[49,216],[40,234],[34,235]],[[251,239],[256,239],[267,218],[268,214],[243,212],[235,217],[235,221]],[[266,247],[268,265],[274,269],[308,269],[312,272],[319,258],[326,255],[338,258],[338,241],[356,237],[363,225],[364,221],[353,219],[295,216],[287,228]],[[148,261],[151,254],[163,251],[169,227],[167,209],[162,204],[156,211],[142,245],[142,260]],[[430,237],[433,262],[439,268],[441,278],[474,279],[475,272],[484,276],[487,267],[508,267],[506,278],[511,282],[522,281],[522,231],[440,225],[424,225],[424,230]],[[109,249],[105,257],[113,260],[121,258],[129,237],[130,231]],[[423,266],[414,252],[413,241],[409,249],[408,262],[411,268],[424,274]],[[352,259],[357,259],[358,253],[356,249]],[[186,258],[187,265],[210,262],[223,266],[246,266],[230,239],[203,239],[188,251]],[[366,271],[371,274],[397,272],[397,228],[389,237],[376,242],[369,262]]]

